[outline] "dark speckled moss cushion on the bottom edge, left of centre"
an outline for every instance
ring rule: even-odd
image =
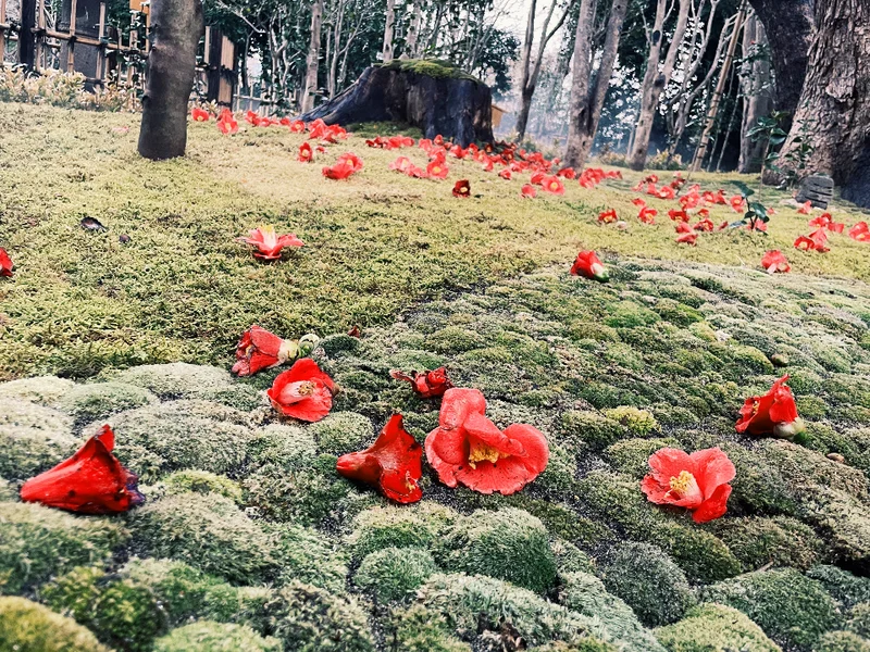
[[[276,614],[274,636],[297,652],[374,652],[365,613],[352,598],[336,598],[293,581],[268,610]]]

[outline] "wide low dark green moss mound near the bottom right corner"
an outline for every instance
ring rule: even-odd
[[[823,586],[792,568],[741,575],[705,588],[701,600],[742,611],[770,638],[794,650],[815,649],[840,623]]]

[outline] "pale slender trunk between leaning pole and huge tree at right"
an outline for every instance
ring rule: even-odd
[[[743,30],[742,57],[746,61],[753,53],[767,45],[765,28],[753,13]],[[769,115],[773,110],[770,93],[770,63],[763,59],[744,63],[741,71],[743,87],[743,123],[741,125],[741,160],[737,172],[747,174],[761,170],[761,154],[765,143],[753,141],[749,129],[758,124],[758,118]]]

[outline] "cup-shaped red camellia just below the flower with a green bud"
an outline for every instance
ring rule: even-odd
[[[275,378],[266,391],[272,406],[285,416],[319,422],[333,406],[333,379],[310,358],[297,360]]]

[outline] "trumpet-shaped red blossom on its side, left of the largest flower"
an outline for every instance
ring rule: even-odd
[[[394,414],[375,442],[357,453],[338,457],[336,471],[351,480],[376,485],[389,500],[401,504],[423,498],[423,449]]]

